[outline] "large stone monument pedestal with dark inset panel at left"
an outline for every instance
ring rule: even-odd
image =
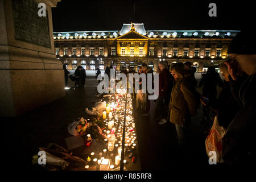
[[[16,117],[65,96],[51,7],[60,0],[0,0],[0,115]],[[46,16],[38,15],[39,3]]]

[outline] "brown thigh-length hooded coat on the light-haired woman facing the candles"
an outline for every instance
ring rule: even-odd
[[[184,125],[191,115],[196,114],[196,98],[191,77],[175,81],[170,100],[170,122]]]

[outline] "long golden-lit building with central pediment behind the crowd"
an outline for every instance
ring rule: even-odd
[[[81,65],[86,70],[104,70],[113,65],[134,67],[142,63],[156,68],[159,61],[169,64],[191,61],[197,72],[228,57],[230,41],[239,31],[224,30],[145,30],[143,23],[123,24],[120,31],[53,32],[55,52],[68,69]]]

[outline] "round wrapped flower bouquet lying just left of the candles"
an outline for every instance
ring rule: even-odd
[[[87,129],[87,121],[84,118],[77,118],[71,125],[68,126],[68,133],[76,137],[80,137],[85,134]]]

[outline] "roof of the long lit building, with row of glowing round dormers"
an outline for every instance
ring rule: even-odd
[[[135,31],[148,38],[233,38],[237,30],[145,30],[143,23],[134,23]],[[53,32],[54,39],[104,39],[117,38],[131,30],[130,24],[123,24],[121,31],[73,31]]]

